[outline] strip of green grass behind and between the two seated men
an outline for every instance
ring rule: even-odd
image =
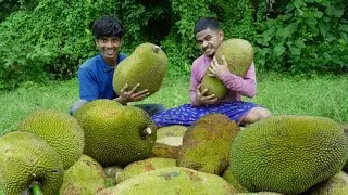
[[[167,108],[189,103],[189,77],[166,78],[162,89],[139,103],[162,103]],[[78,82],[35,84],[27,82],[12,92],[0,94],[0,134],[16,129],[18,122],[38,109],[69,112],[78,100]],[[294,114],[324,116],[348,122],[348,78],[344,76],[312,79],[265,75],[258,80],[258,93],[252,101],[268,107],[274,115]]]

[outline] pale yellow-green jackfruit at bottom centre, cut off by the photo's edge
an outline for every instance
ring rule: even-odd
[[[184,167],[171,167],[137,174],[98,195],[202,195],[234,194],[235,188],[221,177]]]

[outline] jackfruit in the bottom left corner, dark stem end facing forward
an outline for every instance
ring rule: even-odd
[[[57,194],[63,182],[59,154],[41,138],[27,131],[0,136],[0,186],[4,194],[29,192],[39,185],[44,194]]]

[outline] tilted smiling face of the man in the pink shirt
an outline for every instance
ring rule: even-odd
[[[212,57],[223,42],[224,34],[222,30],[212,30],[207,28],[202,31],[196,34],[196,40],[200,44],[200,48],[203,51],[203,54]]]

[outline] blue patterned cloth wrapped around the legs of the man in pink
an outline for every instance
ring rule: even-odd
[[[182,125],[190,126],[200,117],[208,114],[224,114],[231,120],[240,122],[243,117],[250,112],[251,108],[257,107],[257,104],[251,102],[234,101],[204,105],[195,107],[191,104],[184,104],[176,108],[166,109],[165,112],[152,116],[152,120],[159,127]]]

